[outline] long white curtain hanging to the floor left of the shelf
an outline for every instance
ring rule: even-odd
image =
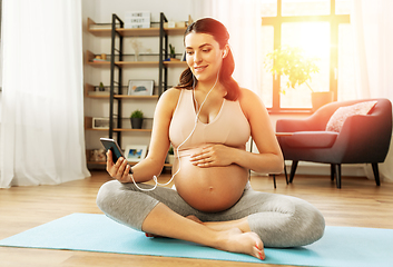
[[[0,187],[82,179],[80,0],[2,1]]]

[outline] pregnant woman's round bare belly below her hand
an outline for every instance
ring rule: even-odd
[[[230,208],[242,197],[248,171],[238,166],[202,168],[194,166],[190,156],[180,157],[180,170],[175,176],[177,192],[191,207],[216,212]],[[175,162],[174,171],[178,168]]]

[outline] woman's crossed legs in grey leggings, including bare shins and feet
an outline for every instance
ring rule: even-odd
[[[246,189],[232,208],[207,214],[190,207],[173,189],[145,192],[115,180],[100,188],[97,205],[108,217],[138,230],[262,259],[264,246],[304,246],[324,231],[321,212],[308,202],[253,189]]]

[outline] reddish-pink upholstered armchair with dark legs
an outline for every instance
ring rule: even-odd
[[[327,131],[326,125],[340,107],[376,100],[367,115],[354,115],[341,130]],[[372,164],[375,182],[380,186],[379,162],[389,151],[392,136],[392,103],[387,99],[363,99],[332,102],[321,107],[306,119],[279,119],[277,132],[293,132],[278,141],[286,160],[292,160],[289,182],[293,182],[298,161],[331,165],[331,178],[341,188],[342,164]]]

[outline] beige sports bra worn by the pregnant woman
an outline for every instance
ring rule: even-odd
[[[175,150],[193,131],[196,116],[197,113],[193,102],[193,90],[181,89],[169,126],[169,139]],[[249,136],[249,123],[243,113],[239,101],[224,99],[218,115],[210,122],[204,123],[197,120],[195,131],[188,140],[181,145],[179,152],[207,144],[223,144],[245,149]]]

